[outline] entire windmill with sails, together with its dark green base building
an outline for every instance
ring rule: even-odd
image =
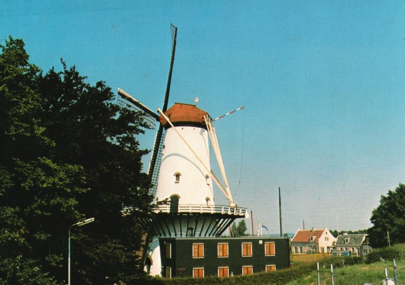
[[[221,237],[246,208],[233,200],[213,120],[195,105],[175,103],[167,109],[177,28],[172,25],[172,58],[163,109],[158,114],[118,89],[130,107],[159,124],[149,176],[150,194],[159,202],[155,215],[139,220],[145,229],[142,260],[151,275],[204,277],[271,271],[290,265],[289,239]],[[221,178],[211,169],[213,150]],[[228,205],[216,205],[213,183]]]

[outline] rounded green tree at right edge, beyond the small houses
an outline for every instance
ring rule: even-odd
[[[391,245],[405,242],[405,185],[399,184],[394,191],[381,195],[380,205],[373,210],[370,221],[374,225],[368,232],[373,247],[388,246],[388,234]]]

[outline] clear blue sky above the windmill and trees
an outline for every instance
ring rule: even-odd
[[[169,105],[245,106],[215,122],[238,205],[276,233],[281,187],[284,232],[357,230],[405,183],[403,15],[403,1],[3,1],[0,39],[155,109],[175,24]]]

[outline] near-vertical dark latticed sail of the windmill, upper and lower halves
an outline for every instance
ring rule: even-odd
[[[168,84],[166,86],[166,94],[165,99],[163,102],[163,111],[166,112],[169,103],[169,93],[170,93],[170,84],[172,82],[172,71],[173,71],[173,63],[174,63],[174,55],[176,52],[176,38],[177,38],[177,27],[173,24],[170,24],[170,29],[172,33],[172,57],[170,59],[170,68],[169,68],[169,77],[168,77]],[[159,129],[156,133],[155,142],[153,145],[153,152],[150,159],[148,175],[151,177],[151,182],[153,184],[152,188],[149,191],[149,194],[154,195],[156,193],[157,188],[157,180],[159,178],[159,168],[160,168],[160,161],[161,161],[161,154],[163,151],[163,125],[159,125]]]

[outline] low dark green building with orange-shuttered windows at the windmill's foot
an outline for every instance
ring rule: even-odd
[[[285,237],[161,237],[162,276],[231,276],[290,266]]]

